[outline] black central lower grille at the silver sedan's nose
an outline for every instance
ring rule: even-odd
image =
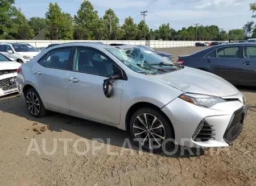
[[[233,140],[235,140],[243,130],[243,118],[245,115],[244,111],[245,108],[243,107],[238,109],[234,112],[232,118],[230,119],[229,125],[224,134],[224,140],[228,144],[232,144]]]

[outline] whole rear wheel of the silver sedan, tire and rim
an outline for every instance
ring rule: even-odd
[[[46,115],[43,102],[34,88],[28,89],[25,93],[26,107],[30,115],[36,118]]]

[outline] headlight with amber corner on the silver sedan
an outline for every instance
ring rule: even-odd
[[[216,96],[208,96],[204,94],[193,94],[193,93],[184,93],[179,96],[181,100],[190,102],[191,104],[199,105],[199,106],[204,106],[206,108],[210,108],[215,104],[225,102],[220,97]]]

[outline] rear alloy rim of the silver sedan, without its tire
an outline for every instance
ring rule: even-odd
[[[28,92],[26,97],[27,108],[33,115],[38,115],[40,110],[40,102],[38,97],[33,92]]]

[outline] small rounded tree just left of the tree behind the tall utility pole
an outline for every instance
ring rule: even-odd
[[[134,23],[133,18],[131,18],[131,16],[125,18],[125,23],[123,23],[122,29],[125,32],[126,40],[135,39],[137,34],[137,25]]]

